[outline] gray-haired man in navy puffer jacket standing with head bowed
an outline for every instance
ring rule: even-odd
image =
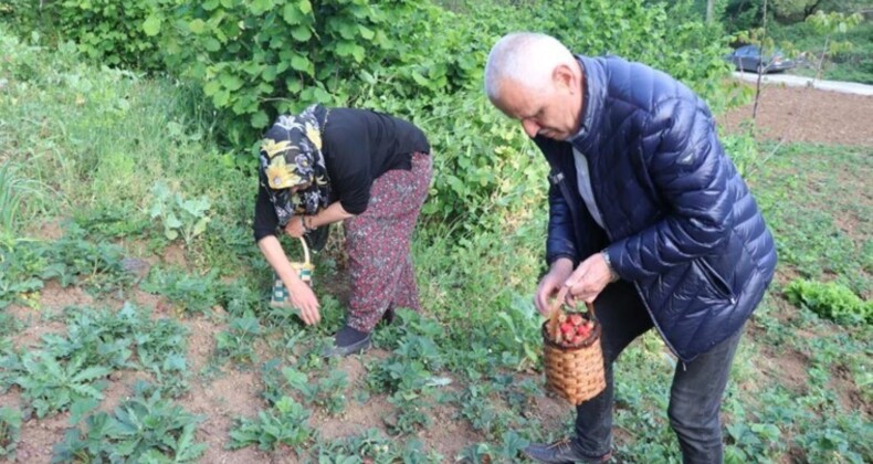
[[[722,396],[776,252],[706,104],[649,66],[574,56],[536,33],[494,45],[485,91],[551,168],[549,271],[536,306],[545,315],[567,286],[577,300],[597,299],[603,327],[606,390],[577,407],[575,437],[525,453],[546,463],[608,461],[612,362],[654,327],[680,360],[667,414],[683,458],[722,462]]]

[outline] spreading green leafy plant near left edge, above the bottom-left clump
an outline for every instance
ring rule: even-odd
[[[23,397],[33,405],[38,418],[66,410],[81,399],[102,399],[105,382],[97,381],[112,372],[105,366],[88,366],[86,357],[78,355],[69,361],[46,351],[25,351],[21,358],[21,370],[14,383],[21,387]]]

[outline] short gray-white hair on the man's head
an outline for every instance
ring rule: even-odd
[[[515,32],[504,35],[488,53],[485,64],[485,94],[499,98],[501,82],[515,81],[526,87],[541,88],[559,64],[572,65],[572,53],[551,35]]]

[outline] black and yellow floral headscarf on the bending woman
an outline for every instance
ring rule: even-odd
[[[295,214],[315,214],[327,207],[330,182],[322,155],[327,109],[312,105],[296,116],[280,116],[261,144],[260,178],[285,226]],[[292,193],[291,189],[301,187]]]

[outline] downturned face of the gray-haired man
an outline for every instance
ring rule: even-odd
[[[571,83],[549,82],[545,88],[532,88],[512,80],[501,83],[499,99],[494,106],[522,122],[529,137],[567,140],[579,130],[581,92],[570,92]]]

